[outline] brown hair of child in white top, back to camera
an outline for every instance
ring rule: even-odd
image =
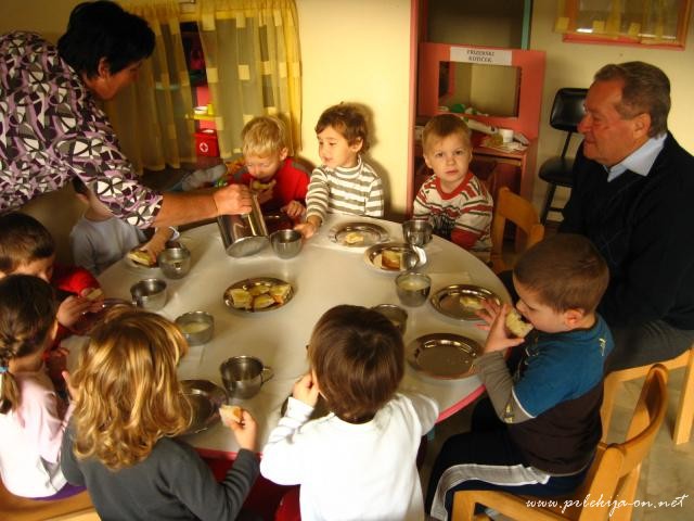
[[[329,309],[313,328],[308,358],[330,410],[355,423],[390,401],[404,371],[402,335],[382,314],[361,306]]]

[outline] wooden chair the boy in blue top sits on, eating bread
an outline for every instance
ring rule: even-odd
[[[626,501],[614,510],[611,520],[631,519],[631,504],[639,484],[641,461],[648,455],[667,410],[667,379],[668,370],[664,366],[653,366],[641,390],[627,440],[624,443],[600,444],[586,482],[575,494],[538,499],[506,492],[461,491],[453,496],[453,521],[488,519],[486,516],[474,517],[477,504],[518,520],[601,521],[609,518],[611,500]],[[589,501],[583,504],[584,499]],[[591,504],[590,499],[594,503]],[[528,504],[534,500],[545,503]]]

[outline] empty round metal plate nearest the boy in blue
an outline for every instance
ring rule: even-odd
[[[419,372],[437,380],[455,380],[472,374],[473,361],[481,353],[472,339],[452,333],[425,334],[407,347],[407,360]]]

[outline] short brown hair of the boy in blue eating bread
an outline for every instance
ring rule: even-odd
[[[609,268],[590,240],[557,233],[538,242],[516,262],[513,278],[557,313],[597,308],[609,282]]]

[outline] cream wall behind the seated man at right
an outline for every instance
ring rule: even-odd
[[[538,148],[538,165],[552,155],[562,152],[565,135],[549,125],[550,110],[554,93],[561,87],[589,87],[593,74],[607,63],[643,61],[660,67],[670,78],[672,110],[669,128],[690,153],[694,153],[694,127],[691,124],[694,114],[694,22],[690,20],[686,49],[684,51],[650,49],[647,47],[604,46],[591,43],[564,43],[562,36],[554,33],[556,2],[554,0],[535,0],[532,2],[532,27],[530,48],[547,52],[547,69]],[[573,141],[574,148],[580,143]],[[539,207],[547,185],[537,180],[535,202]],[[560,189],[561,190],[561,189]],[[560,193],[557,201],[565,199],[566,191]],[[560,196],[561,195],[561,196]],[[562,203],[560,203],[562,204]],[[554,218],[556,214],[552,215]]]

